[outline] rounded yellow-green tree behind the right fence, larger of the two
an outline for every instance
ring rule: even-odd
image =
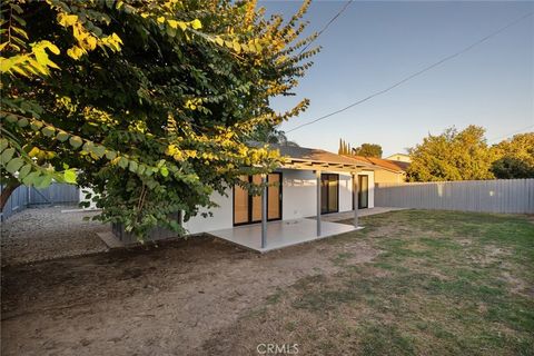
[[[495,160],[484,138],[484,128],[468,126],[463,131],[448,128],[439,136],[428,135],[409,149],[408,181],[492,179]]]

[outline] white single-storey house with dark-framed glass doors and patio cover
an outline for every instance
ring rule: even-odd
[[[277,231],[276,238],[279,239],[279,235],[297,234],[296,230],[287,230],[288,226],[306,225],[309,230],[312,224],[313,237],[316,238],[326,237],[328,234],[335,235],[338,231],[336,226],[342,226],[322,222],[320,218],[315,218],[315,221],[305,218],[355,211],[355,227],[357,227],[355,205],[360,209],[374,207],[373,165],[320,149],[291,146],[273,146],[273,148],[279,149],[280,155],[285,157],[283,166],[266,177],[258,175],[244,177],[244,179],[258,184],[261,179],[280,184],[266,188],[263,196],[251,196],[238,186],[229,188],[226,196],[215,194],[212,200],[219,207],[210,209],[211,216],[202,217],[201,212],[208,211],[201,210],[197,216],[185,221],[184,227],[189,234],[214,233],[215,236],[237,240],[240,245],[247,245],[241,244],[245,235],[247,235],[246,238],[255,239],[253,245],[259,244],[258,235],[261,235],[259,250],[269,243],[268,235],[273,230]],[[281,224],[274,224],[275,221],[281,221]],[[347,227],[347,225],[344,226]],[[285,233],[280,229],[285,229]],[[301,228],[299,231],[304,235],[309,234],[309,231],[304,233]]]

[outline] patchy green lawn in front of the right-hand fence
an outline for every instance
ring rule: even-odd
[[[532,217],[403,210],[362,225],[325,244],[358,240],[375,259],[335,255],[339,271],[275,293],[263,322],[310,354],[534,355]]]

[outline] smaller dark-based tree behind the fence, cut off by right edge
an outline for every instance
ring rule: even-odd
[[[534,178],[534,132],[515,135],[492,147],[491,171],[500,179]]]

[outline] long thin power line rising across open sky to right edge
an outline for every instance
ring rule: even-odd
[[[390,87],[387,87],[386,89],[383,89],[383,90],[379,90],[379,91],[377,91],[377,92],[375,92],[375,93],[372,93],[370,96],[368,96],[368,97],[366,97],[366,98],[364,98],[364,99],[362,99],[362,100],[358,100],[358,101],[356,101],[356,102],[353,102],[353,103],[350,103],[349,106],[346,106],[345,108],[342,108],[342,109],[339,109],[339,110],[333,111],[333,112],[327,113],[327,115],[324,115],[324,116],[322,116],[322,117],[319,117],[319,118],[317,118],[317,119],[314,119],[314,120],[312,120],[312,121],[309,121],[309,122],[299,125],[299,126],[297,126],[297,127],[295,127],[295,128],[293,128],[293,129],[290,129],[290,130],[287,130],[286,134],[293,132],[293,131],[298,130],[298,129],[300,129],[300,128],[303,128],[303,127],[305,127],[305,126],[308,126],[308,125],[315,123],[315,122],[317,122],[317,121],[324,120],[324,119],[329,118],[329,117],[332,117],[332,116],[334,116],[334,115],[336,115],[336,113],[346,111],[346,110],[348,110],[348,109],[350,109],[350,108],[353,108],[353,107],[355,107],[355,106],[357,106],[357,105],[360,105],[360,103],[363,103],[363,102],[365,102],[365,101],[367,101],[367,100],[370,100],[370,99],[373,99],[373,98],[375,98],[375,97],[377,97],[377,96],[380,96],[380,95],[383,95],[383,93],[386,93],[386,92],[388,92],[389,90],[395,89],[396,87],[405,83],[406,81],[408,81],[408,80],[411,80],[411,79],[413,79],[413,78],[415,78],[415,77],[418,77],[418,76],[423,75],[424,72],[426,72],[426,71],[428,71],[428,70],[431,70],[431,69],[433,69],[433,68],[435,68],[435,67],[437,67],[437,66],[439,66],[439,65],[442,65],[442,63],[444,63],[444,62],[446,62],[446,61],[448,61],[448,60],[451,60],[451,59],[453,59],[453,58],[456,58],[456,57],[458,57],[458,56],[461,56],[461,55],[469,51],[469,50],[473,49],[474,47],[476,47],[476,46],[478,46],[478,44],[487,41],[488,39],[491,39],[491,38],[494,37],[494,36],[497,36],[498,33],[505,31],[506,29],[508,29],[510,27],[516,24],[517,22],[523,21],[523,20],[526,19],[527,17],[532,16],[532,13],[533,13],[533,12],[528,12],[528,13],[522,16],[521,18],[518,18],[518,19],[510,22],[510,23],[506,24],[505,27],[503,27],[503,28],[501,28],[501,29],[498,29],[498,30],[496,30],[496,31],[494,31],[494,32],[492,32],[492,33],[490,33],[490,34],[481,38],[479,40],[477,40],[476,42],[474,42],[474,43],[465,47],[464,49],[462,49],[462,50],[459,50],[459,51],[457,51],[457,52],[455,52],[455,53],[453,53],[453,55],[451,55],[451,56],[447,56],[447,57],[438,60],[437,62],[434,62],[433,65],[429,65],[429,66],[421,69],[419,71],[416,71],[416,72],[413,73],[413,75],[409,75],[408,77],[402,79],[400,81],[397,81],[396,83],[392,85]]]

